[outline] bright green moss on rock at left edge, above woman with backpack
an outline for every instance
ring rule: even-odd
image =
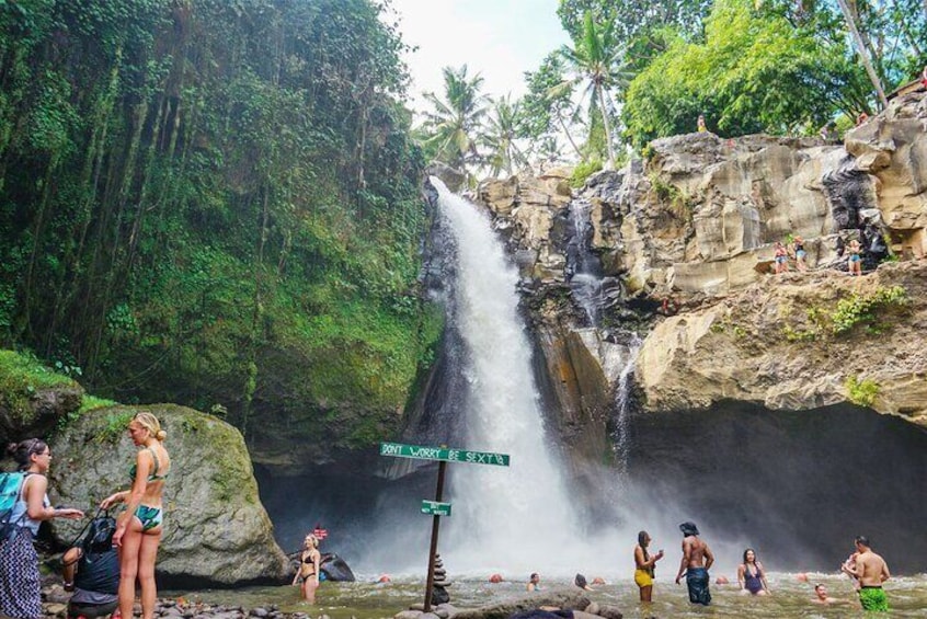
[[[32,420],[30,403],[38,390],[77,386],[67,376],[45,367],[34,355],[0,351],[0,403],[14,419]]]

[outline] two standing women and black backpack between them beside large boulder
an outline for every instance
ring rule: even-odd
[[[98,523],[98,526],[90,526],[83,542],[62,558],[65,588],[75,592],[69,617],[103,617],[114,610],[121,617],[133,617],[136,583],[141,588],[142,618],[152,619],[154,615],[154,561],[163,526],[161,497],[171,457],[163,446],[167,433],[150,412],[136,414],[128,424],[128,433],[139,448],[128,472],[131,486],[111,494],[100,504],[101,512],[118,503],[125,505],[125,511],[115,521],[107,516],[94,518],[90,525]],[[23,474],[9,513],[10,526],[0,540],[0,614],[15,619],[37,619],[43,612],[33,538],[44,520],[79,519],[84,513],[52,507],[46,494],[52,450],[45,442],[30,438],[11,445],[9,451]],[[111,525],[105,525],[107,518]]]

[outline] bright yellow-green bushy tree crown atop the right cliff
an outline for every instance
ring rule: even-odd
[[[816,133],[843,103],[854,67],[839,48],[746,0],[718,0],[705,41],[677,37],[627,91],[623,118],[637,147],[693,133],[706,115],[722,135]]]

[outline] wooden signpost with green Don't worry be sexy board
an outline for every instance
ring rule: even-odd
[[[469,462],[471,465],[508,466],[507,454],[492,454],[489,451],[468,451],[466,449],[448,449],[447,447],[422,447],[420,445],[402,445],[401,443],[380,443],[380,456],[393,458],[412,458],[415,460],[437,460],[438,481],[435,488],[434,501],[422,501],[422,514],[434,516],[432,519],[432,545],[428,551],[428,577],[425,581],[425,612],[432,611],[432,586],[435,582],[435,553],[437,552],[438,527],[442,516],[450,516],[450,503],[442,501],[444,496],[444,473],[448,462]]]

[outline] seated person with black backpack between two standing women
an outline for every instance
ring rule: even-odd
[[[116,523],[95,518],[83,542],[65,552],[65,591],[73,591],[68,617],[105,617],[119,605],[119,557],[113,547]]]

